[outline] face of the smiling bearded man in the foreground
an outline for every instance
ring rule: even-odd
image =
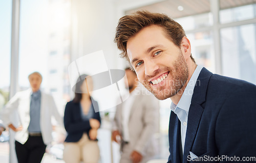
[[[181,49],[157,25],[127,41],[127,55],[139,82],[160,100],[176,95],[186,83],[188,67]]]

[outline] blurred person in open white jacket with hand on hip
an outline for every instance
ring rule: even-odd
[[[33,72],[29,76],[31,88],[16,93],[3,108],[4,124],[15,131],[15,150],[18,163],[41,162],[46,146],[52,141],[52,123],[63,125],[53,97],[40,90],[42,76]],[[18,113],[19,124],[13,124],[10,115]]]

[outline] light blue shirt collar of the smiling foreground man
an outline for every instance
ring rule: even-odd
[[[180,98],[179,103],[177,104],[177,106],[172,102],[172,104],[170,105],[170,109],[172,111],[175,111],[176,107],[181,108],[182,110],[188,112],[189,111],[189,107],[191,104],[191,99],[193,96],[193,92],[194,92],[194,88],[196,86],[197,83],[197,78],[201,72],[203,67],[201,66],[197,66],[197,68],[195,69],[193,75],[191,76],[189,82],[187,83],[187,86]]]

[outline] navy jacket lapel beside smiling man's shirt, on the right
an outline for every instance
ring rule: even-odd
[[[204,110],[204,102],[206,100],[206,91],[210,76],[212,75],[206,68],[203,68],[197,79],[194,93],[189,107],[186,140],[184,146],[183,163],[187,162],[187,156],[191,150],[196,138],[198,126]]]

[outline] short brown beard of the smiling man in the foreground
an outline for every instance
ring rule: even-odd
[[[152,85],[147,82],[148,81],[147,79],[144,80],[142,85],[148,91],[153,93],[157,99],[164,100],[176,95],[187,82],[188,66],[186,64],[186,61],[181,51],[180,51],[179,57],[174,62],[173,67],[168,67],[160,71],[169,71],[168,75],[173,77],[173,80],[168,81],[169,83],[167,83],[168,87],[166,89],[163,88],[164,86],[162,88],[160,87],[160,89],[153,89]],[[156,72],[156,73],[159,73],[159,72]]]

